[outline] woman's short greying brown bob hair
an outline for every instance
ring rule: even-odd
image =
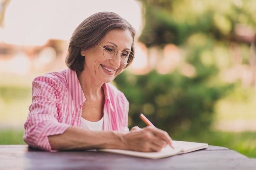
[[[81,49],[88,49],[95,45],[109,31],[115,28],[129,30],[131,32],[133,40],[131,51],[134,54],[135,29],[132,25],[116,13],[99,12],[86,18],[72,34],[66,58],[67,66],[74,71],[82,71],[84,69],[85,59],[80,53]],[[131,60],[133,57],[130,55],[129,59]],[[126,67],[131,62],[132,61],[130,61]]]

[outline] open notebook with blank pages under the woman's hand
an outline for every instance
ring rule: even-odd
[[[207,148],[208,144],[173,140],[172,146],[174,147],[174,149],[171,148],[170,146],[167,146],[159,152],[137,152],[137,151],[121,150],[121,149],[99,149],[99,151],[118,153],[118,154],[143,157],[143,158],[150,158],[150,159],[159,159],[159,158],[164,158],[168,156],[188,153],[195,150]]]

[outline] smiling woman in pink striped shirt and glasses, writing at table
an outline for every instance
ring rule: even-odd
[[[158,128],[128,129],[129,103],[111,82],[134,58],[133,27],[100,12],[74,31],[67,70],[36,77],[24,141],[47,151],[116,148],[159,151],[170,136]]]

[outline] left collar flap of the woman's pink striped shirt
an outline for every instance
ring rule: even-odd
[[[84,104],[85,97],[84,97],[82,87],[79,83],[76,71],[68,68],[66,72],[66,78],[67,78],[69,91],[71,93],[72,100],[74,103],[74,107],[78,108],[79,106]]]

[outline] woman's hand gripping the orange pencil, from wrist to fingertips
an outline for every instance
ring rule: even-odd
[[[154,152],[171,145],[172,139],[166,131],[147,126],[142,129],[133,127],[129,133],[123,135],[123,142],[127,150]]]

